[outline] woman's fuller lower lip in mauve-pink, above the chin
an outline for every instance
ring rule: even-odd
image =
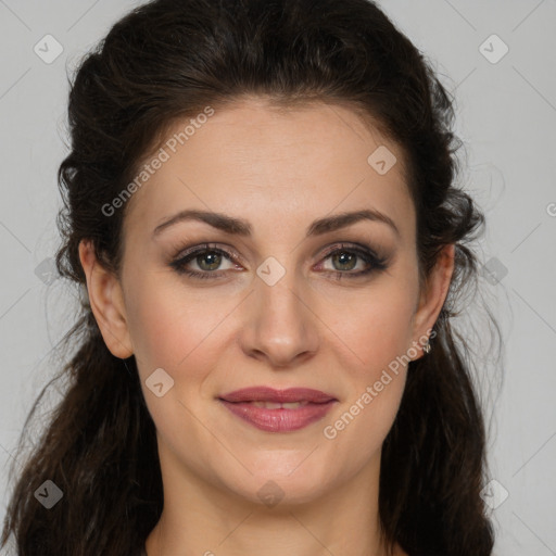
[[[336,400],[325,404],[306,404],[296,409],[266,409],[255,407],[249,402],[220,402],[236,416],[267,432],[290,432],[303,429],[312,422],[320,420],[336,403]]]

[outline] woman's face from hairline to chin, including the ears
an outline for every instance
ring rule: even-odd
[[[93,309],[111,351],[136,356],[168,476],[311,501],[378,469],[450,271],[420,292],[402,152],[346,108],[252,99],[200,121],[149,159],[121,281],[104,298],[89,282]],[[332,401],[222,400],[253,387]]]

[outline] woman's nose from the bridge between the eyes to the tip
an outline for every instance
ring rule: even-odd
[[[309,301],[303,299],[306,290],[299,273],[269,256],[256,274],[243,349],[251,355],[266,356],[276,366],[289,365],[301,354],[313,353],[317,330]]]

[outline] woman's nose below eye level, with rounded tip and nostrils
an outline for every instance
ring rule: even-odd
[[[241,330],[243,352],[273,368],[291,368],[314,356],[318,318],[294,274],[286,273],[274,286],[256,278],[254,289]]]

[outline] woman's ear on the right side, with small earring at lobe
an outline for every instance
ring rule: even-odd
[[[454,274],[454,256],[455,244],[445,245],[439,253],[437,264],[422,286],[419,304],[413,318],[413,337],[416,344],[418,344],[420,356],[424,354],[424,340],[430,337],[430,330],[439,317],[442,305],[444,305]],[[419,357],[416,357],[416,359]]]

